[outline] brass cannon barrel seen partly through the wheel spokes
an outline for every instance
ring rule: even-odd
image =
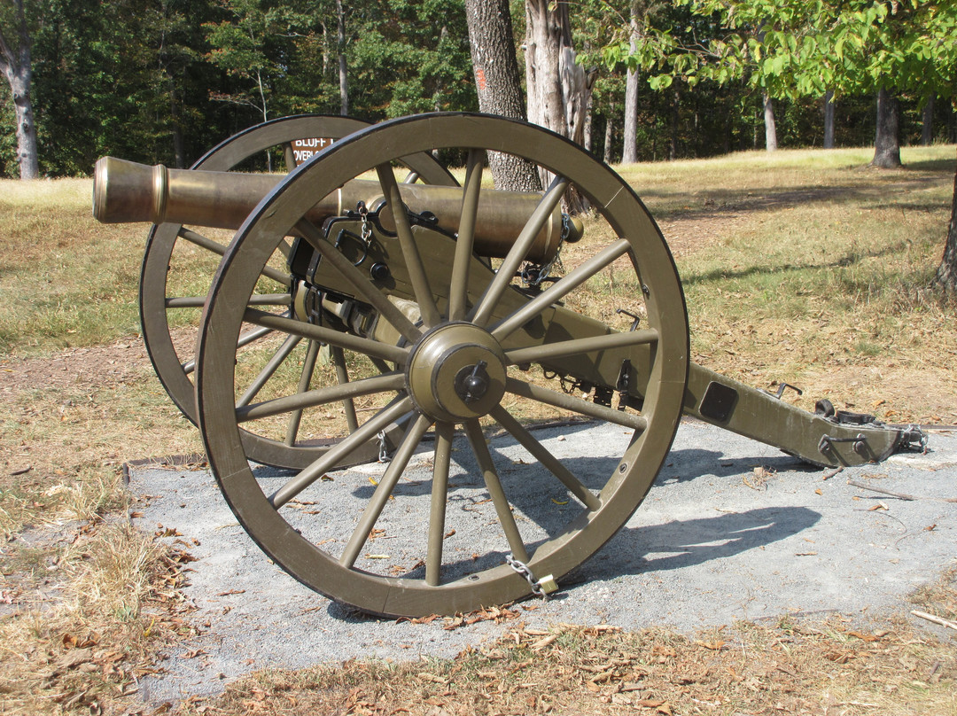
[[[150,221],[172,222],[219,229],[237,229],[256,204],[282,180],[275,174],[244,174],[233,171],[148,167],[115,157],[97,162],[93,179],[93,215],[103,223]],[[402,200],[414,213],[431,212],[439,228],[456,233],[462,206],[459,187],[400,184]],[[480,256],[504,257],[528,217],[541,201],[541,194],[482,190],[476,217],[475,250]],[[317,200],[308,214],[315,223],[355,210],[362,201],[370,209],[383,202],[378,181],[354,179]],[[388,207],[381,213],[384,228],[391,229]],[[529,258],[545,262],[566,241],[577,241],[582,224],[555,209],[536,238]]]

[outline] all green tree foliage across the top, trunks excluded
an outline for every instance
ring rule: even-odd
[[[957,4],[637,0],[644,40],[633,53],[631,2],[572,6],[579,59],[600,69],[593,146],[602,155],[610,126],[612,161],[621,156],[627,68],[647,80],[639,89],[643,160],[752,147],[764,90],[781,98],[778,132],[787,145],[820,143],[825,86],[840,94],[844,145],[872,140],[873,107],[858,98],[878,78],[911,91],[902,97],[905,137],[919,122],[917,101],[953,94]],[[8,34],[10,8],[0,3]],[[27,0],[26,8],[46,175],[86,174],[104,154],[188,166],[264,116],[338,114],[341,49],[353,116],[477,108],[460,0],[346,2],[343,48],[333,0]],[[521,54],[523,2],[512,8]],[[5,83],[0,103],[0,175],[16,176]],[[938,102],[938,122],[947,109]]]

